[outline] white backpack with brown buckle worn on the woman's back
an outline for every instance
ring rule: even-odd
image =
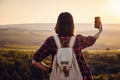
[[[69,47],[61,47],[58,35],[53,37],[58,50],[54,56],[50,80],[83,80],[75,53],[72,49],[75,36],[71,37]]]

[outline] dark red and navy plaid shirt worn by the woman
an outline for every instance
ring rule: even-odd
[[[65,41],[70,41],[69,36],[59,36],[60,42],[63,44]],[[82,36],[77,35],[75,44],[73,49],[75,51],[75,55],[78,61],[78,65],[80,67],[81,74],[83,76],[83,80],[92,80],[91,72],[86,64],[84,59],[84,55],[82,54],[82,50],[86,47],[92,46],[96,39],[92,36]],[[52,59],[57,52],[57,45],[54,41],[53,36],[47,38],[45,43],[36,51],[34,54],[34,60],[37,62],[41,62],[45,57],[52,55]],[[53,60],[52,60],[53,61]]]

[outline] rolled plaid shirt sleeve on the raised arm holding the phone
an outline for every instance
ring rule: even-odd
[[[82,39],[81,46],[83,49],[92,46],[96,41],[96,39],[93,36],[81,36],[81,39]]]

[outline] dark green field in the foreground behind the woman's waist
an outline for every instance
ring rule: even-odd
[[[0,49],[0,80],[47,80],[49,73],[31,64],[35,50]],[[94,80],[120,80],[120,51],[83,51]],[[44,60],[48,65],[51,57]]]

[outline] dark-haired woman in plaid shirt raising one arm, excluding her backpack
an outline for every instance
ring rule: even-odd
[[[74,44],[74,51],[78,61],[78,65],[83,77],[83,80],[92,80],[91,72],[85,62],[84,56],[82,54],[82,50],[86,47],[92,46],[96,39],[100,36],[102,32],[102,24],[100,23],[98,26],[98,33],[94,36],[82,36],[80,34],[76,35],[76,40]],[[58,34],[61,44],[64,42],[69,42],[70,37],[74,36],[74,22],[73,17],[68,12],[63,12],[59,15],[57,24],[54,28],[56,34]],[[34,54],[34,59],[32,60],[32,64],[36,67],[42,69],[43,71],[49,71],[50,67],[41,62],[45,57],[52,55],[52,59],[57,52],[57,46],[53,39],[53,36],[47,38],[45,43],[37,50]]]

